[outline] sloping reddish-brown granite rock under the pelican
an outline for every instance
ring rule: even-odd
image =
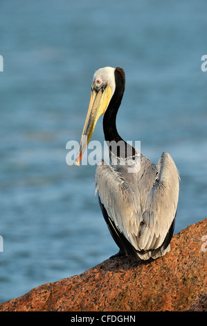
[[[206,225],[207,218],[175,234],[171,251],[154,261],[107,259],[3,302],[0,311],[206,311]]]

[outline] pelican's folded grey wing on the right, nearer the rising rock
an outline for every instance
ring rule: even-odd
[[[143,205],[143,222],[138,234],[141,249],[156,249],[170,243],[179,197],[179,173],[168,153],[156,165],[156,177]]]

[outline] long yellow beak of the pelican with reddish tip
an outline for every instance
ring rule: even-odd
[[[80,160],[82,159],[82,155],[89,144],[89,140],[91,139],[91,135],[93,134],[98,118],[107,110],[107,106],[109,105],[109,101],[111,99],[111,94],[112,89],[109,84],[107,84],[105,89],[101,88],[98,92],[92,85],[87,119],[84,123],[79,150],[75,159],[76,165],[80,165]]]

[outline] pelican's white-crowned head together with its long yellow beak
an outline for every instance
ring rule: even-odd
[[[82,130],[82,137],[75,164],[80,165],[82,155],[89,144],[91,135],[101,114],[105,114],[109,102],[114,95],[116,83],[114,71],[116,68],[105,67],[98,69],[93,75],[91,98],[87,118]]]

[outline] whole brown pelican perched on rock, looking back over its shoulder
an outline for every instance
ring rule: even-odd
[[[123,69],[105,67],[96,71],[75,163],[80,164],[96,122],[104,114],[103,130],[111,161],[108,164],[102,160],[97,165],[95,185],[102,214],[120,248],[116,255],[131,255],[136,260],[156,259],[170,251],[179,173],[170,154],[162,153],[155,166],[118,135],[116,114],[124,90]],[[124,146],[117,146],[114,151],[111,141],[116,144],[122,141]]]

